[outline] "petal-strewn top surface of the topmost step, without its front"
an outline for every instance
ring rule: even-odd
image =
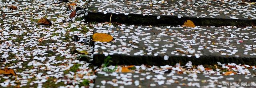
[[[213,0],[92,0],[89,12],[192,16],[196,18],[256,19],[255,5]],[[96,9],[95,9],[96,8]]]

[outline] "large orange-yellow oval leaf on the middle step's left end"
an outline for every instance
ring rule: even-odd
[[[110,42],[113,40],[113,37],[105,33],[95,33],[92,35],[92,40],[100,42]]]

